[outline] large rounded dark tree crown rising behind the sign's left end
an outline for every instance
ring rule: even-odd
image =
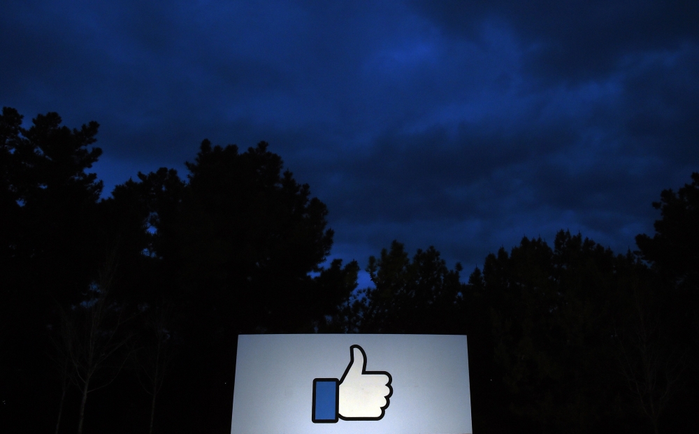
[[[261,142],[247,152],[205,140],[188,163],[182,253],[208,291],[213,316],[238,322],[236,333],[300,331],[322,319],[308,276],[332,244],[325,205],[310,198],[282,160]],[[193,276],[192,276],[193,277]]]

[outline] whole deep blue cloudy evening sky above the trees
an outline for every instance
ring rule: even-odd
[[[4,0],[0,106],[101,124],[105,196],[260,140],[329,208],[333,257],[522,236],[615,252],[699,171],[699,2]]]

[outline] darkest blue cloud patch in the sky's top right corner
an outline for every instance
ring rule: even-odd
[[[563,81],[613,72],[630,53],[677,50],[696,43],[699,3],[681,1],[415,1],[455,38],[478,38],[483,22],[501,22],[531,45],[527,66]]]

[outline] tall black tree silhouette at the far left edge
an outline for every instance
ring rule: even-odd
[[[12,375],[3,399],[12,405],[4,426],[40,424],[23,403],[48,407],[52,366],[47,327],[57,305],[80,299],[100,254],[93,244],[102,184],[87,169],[99,158],[96,122],[61,126],[56,113],[29,128],[13,108],[0,115],[0,329]]]

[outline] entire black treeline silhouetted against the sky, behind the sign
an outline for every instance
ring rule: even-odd
[[[638,252],[561,231],[463,283],[394,242],[358,288],[266,143],[101,200],[98,124],[61,122],[0,116],[2,433],[228,433],[240,333],[466,334],[475,433],[699,429],[699,173]]]

